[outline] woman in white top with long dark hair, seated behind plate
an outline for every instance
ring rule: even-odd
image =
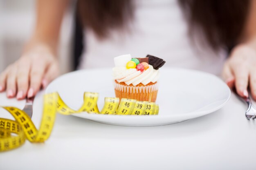
[[[68,0],[38,0],[34,33],[20,59],[0,75],[7,97],[32,97],[57,77],[67,6]],[[223,70],[230,88],[247,97],[249,86],[256,99],[255,0],[80,0],[78,7],[86,42],[80,68],[109,66],[125,53],[149,53],[169,66]]]

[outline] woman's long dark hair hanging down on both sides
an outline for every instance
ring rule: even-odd
[[[213,49],[231,47],[243,32],[251,0],[178,0],[190,32],[202,29]],[[81,19],[99,38],[124,28],[133,17],[132,0],[79,0]]]

